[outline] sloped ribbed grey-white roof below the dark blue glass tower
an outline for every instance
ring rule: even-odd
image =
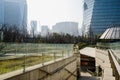
[[[108,28],[100,39],[120,39],[120,27]]]

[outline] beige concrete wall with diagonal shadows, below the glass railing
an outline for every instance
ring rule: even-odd
[[[77,59],[75,56],[60,59],[5,80],[77,80]]]

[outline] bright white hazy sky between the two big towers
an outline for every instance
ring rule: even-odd
[[[28,20],[37,20],[50,28],[57,22],[75,21],[82,24],[83,0],[27,0]]]

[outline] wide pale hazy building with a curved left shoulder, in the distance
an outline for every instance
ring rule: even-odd
[[[78,23],[77,22],[60,22],[53,26],[52,32],[59,34],[70,34],[78,36]]]

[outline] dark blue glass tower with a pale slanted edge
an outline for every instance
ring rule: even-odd
[[[84,0],[83,34],[102,34],[120,26],[120,0]]]

